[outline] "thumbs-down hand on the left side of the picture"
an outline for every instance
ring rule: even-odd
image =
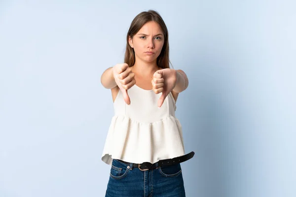
[[[135,73],[127,64],[117,64],[112,68],[113,77],[118,88],[122,92],[123,99],[126,104],[130,104],[131,100],[127,94],[127,90],[136,84]]]

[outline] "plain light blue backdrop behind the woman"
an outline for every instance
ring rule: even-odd
[[[170,2],[168,4],[168,2]],[[103,197],[102,72],[141,11],[189,78],[177,101],[187,197],[296,196],[296,3],[0,1],[0,197]]]

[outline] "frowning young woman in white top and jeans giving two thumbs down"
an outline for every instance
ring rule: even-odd
[[[168,30],[156,11],[138,14],[126,40],[124,64],[101,77],[115,112],[102,155],[111,165],[106,197],[185,197],[180,163],[194,152],[185,155],[175,110],[187,76],[169,66]]]

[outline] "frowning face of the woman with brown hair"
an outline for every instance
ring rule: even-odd
[[[136,60],[151,63],[157,60],[164,43],[164,35],[158,23],[150,21],[146,23],[133,38],[129,38],[129,44],[134,48]]]

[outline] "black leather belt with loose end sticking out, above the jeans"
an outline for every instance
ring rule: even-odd
[[[182,162],[185,162],[189,159],[191,159],[194,156],[194,152],[190,152],[186,155],[180,156],[180,157],[175,157],[172,159],[166,159],[166,160],[159,160],[158,162],[156,162],[159,166],[167,166],[167,165],[173,165],[173,164],[179,164]],[[131,163],[129,162],[124,162],[122,160],[118,160],[119,162],[122,162],[124,164],[130,165]],[[148,169],[155,169],[156,168],[156,163],[151,164],[149,162],[144,162],[142,164],[133,164],[133,167],[138,167],[140,170],[142,171],[146,171]]]

